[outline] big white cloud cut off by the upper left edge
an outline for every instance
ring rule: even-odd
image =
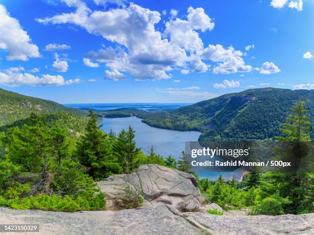
[[[40,57],[38,47],[18,20],[11,17],[6,8],[0,4],[0,49],[8,51],[7,60],[28,60]]]

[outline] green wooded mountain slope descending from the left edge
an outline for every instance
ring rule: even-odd
[[[0,89],[0,131],[27,123],[31,113],[46,114],[46,121],[66,124],[74,130],[86,120],[85,111]]]

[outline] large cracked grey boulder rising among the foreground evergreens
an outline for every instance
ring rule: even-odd
[[[189,211],[200,209],[205,201],[193,175],[156,164],[142,165],[131,174],[113,175],[97,182],[101,192],[110,199],[123,195],[126,184],[142,191],[150,205],[169,204]]]

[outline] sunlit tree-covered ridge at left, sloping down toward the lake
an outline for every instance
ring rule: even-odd
[[[67,108],[53,101],[24,96],[0,89],[0,129],[2,130],[7,125],[28,119],[31,113],[52,115],[60,112],[72,114],[72,119],[74,115],[86,116],[86,112],[84,111]],[[65,117],[63,116],[62,118]]]

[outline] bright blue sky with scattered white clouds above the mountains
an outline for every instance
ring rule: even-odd
[[[60,103],[314,89],[313,0],[0,0],[0,88]]]

